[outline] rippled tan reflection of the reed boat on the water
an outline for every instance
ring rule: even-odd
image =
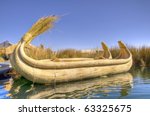
[[[127,96],[132,86],[133,77],[130,73],[111,75],[88,80],[53,85],[33,84],[24,78],[15,80],[10,90],[12,98],[92,98],[91,94],[105,93],[107,95],[113,87],[119,87],[120,97]],[[111,90],[111,91],[110,91]]]

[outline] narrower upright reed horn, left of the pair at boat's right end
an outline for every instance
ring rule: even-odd
[[[108,46],[104,42],[101,42],[101,45],[104,50],[103,57],[107,58],[107,59],[112,59],[112,55],[111,55],[111,52],[110,52]]]

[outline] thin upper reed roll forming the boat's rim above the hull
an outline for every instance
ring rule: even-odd
[[[121,59],[95,59],[95,60],[82,60],[82,61],[75,61],[75,62],[73,61],[55,62],[49,59],[48,62],[45,62],[44,60],[36,60],[27,56],[24,51],[24,45],[25,42],[21,42],[20,44],[18,44],[19,54],[20,54],[19,56],[21,57],[22,61],[24,61],[25,63],[27,63],[32,67],[41,68],[41,69],[68,69],[68,68],[119,65],[119,64],[128,63],[130,60],[132,60],[132,56],[129,52],[128,58],[121,58]]]

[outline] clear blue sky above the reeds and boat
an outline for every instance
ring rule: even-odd
[[[150,0],[0,0],[0,43],[17,43],[40,17],[61,18],[34,45],[89,49],[104,41],[150,46]]]

